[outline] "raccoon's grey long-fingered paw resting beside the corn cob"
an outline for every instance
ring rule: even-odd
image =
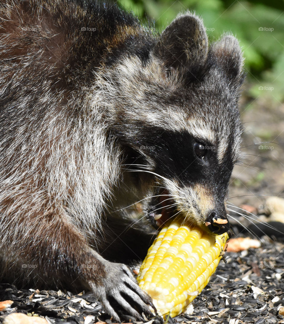
[[[138,286],[137,281],[130,270],[122,263],[113,263],[106,261],[106,276],[100,284],[90,283],[94,293],[102,302],[106,312],[111,315],[115,321],[120,322],[118,312],[121,314],[134,316],[144,321],[141,316],[153,317],[149,306],[156,310],[152,299]]]

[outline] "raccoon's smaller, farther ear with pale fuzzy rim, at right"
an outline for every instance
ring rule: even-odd
[[[211,47],[213,61],[230,80],[242,79],[243,55],[239,42],[234,36],[224,36]]]

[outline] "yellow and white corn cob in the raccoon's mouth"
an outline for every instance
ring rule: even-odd
[[[160,316],[177,316],[202,291],[215,271],[228,234],[213,236],[181,221],[159,232],[137,276]]]

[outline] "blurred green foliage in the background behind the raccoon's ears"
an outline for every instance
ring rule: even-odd
[[[142,21],[155,21],[161,31],[180,11],[203,18],[210,41],[230,32],[238,38],[245,56],[247,80],[253,98],[269,96],[284,101],[283,0],[119,0]]]

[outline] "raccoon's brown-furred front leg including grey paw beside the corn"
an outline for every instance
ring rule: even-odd
[[[140,320],[142,312],[153,316],[147,306],[152,304],[151,298],[139,288],[126,265],[105,260],[66,218],[58,214],[37,216],[36,222],[23,220],[21,226],[16,241],[7,246],[25,277],[44,281],[46,285],[56,280],[65,287],[75,283],[91,288],[116,321],[120,321],[117,311],[123,309]],[[23,264],[31,265],[32,271]]]

